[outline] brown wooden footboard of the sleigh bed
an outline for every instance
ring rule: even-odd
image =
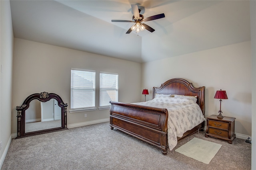
[[[110,102],[110,127],[150,143],[167,154],[167,109]]]

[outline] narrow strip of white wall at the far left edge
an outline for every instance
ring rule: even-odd
[[[0,1],[0,167],[11,140],[13,32],[10,1]]]

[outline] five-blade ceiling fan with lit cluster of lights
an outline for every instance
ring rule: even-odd
[[[138,9],[138,6],[137,5],[131,5],[132,6],[132,12],[134,14],[134,16],[132,16],[132,21],[129,21],[129,20],[111,20],[112,22],[134,22],[135,24],[132,25],[132,27],[130,27],[130,29],[128,29],[128,31],[126,32],[127,34],[136,30],[137,32],[140,31],[140,30],[144,30],[144,29],[147,29],[148,31],[150,32],[154,32],[155,30],[146,25],[145,23],[142,23],[142,22],[146,22],[146,21],[152,21],[152,20],[157,20],[157,19],[160,19],[160,18],[164,18],[164,13],[163,14],[158,14],[158,15],[155,15],[155,16],[150,16],[150,17],[147,17],[147,18],[144,18],[143,15],[140,14],[140,9]]]

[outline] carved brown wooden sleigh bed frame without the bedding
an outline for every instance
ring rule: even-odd
[[[197,104],[204,115],[204,90],[205,87],[195,88],[192,83],[181,78],[174,78],[164,82],[159,88],[153,87],[153,98],[155,94],[180,94],[186,96],[197,96]],[[110,127],[118,129],[151,145],[161,149],[162,154],[167,154],[167,120],[168,110],[126,104],[121,102],[110,102]],[[177,137],[178,141],[204,128],[204,121],[186,131],[182,137]]]

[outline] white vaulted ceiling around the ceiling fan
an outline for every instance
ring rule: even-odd
[[[131,4],[156,31],[126,31]],[[11,0],[14,37],[138,63],[250,41],[249,1]]]

